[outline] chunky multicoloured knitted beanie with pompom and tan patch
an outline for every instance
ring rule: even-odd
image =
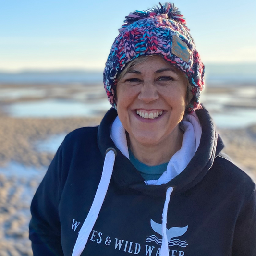
[[[135,11],[125,18],[104,69],[104,87],[110,104],[116,108],[114,89],[117,76],[125,65],[140,56],[155,54],[186,75],[192,87],[192,99],[186,111],[196,110],[204,86],[204,65],[178,8],[172,3],[159,3],[159,6]]]

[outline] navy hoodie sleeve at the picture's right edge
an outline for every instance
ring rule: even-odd
[[[248,195],[234,231],[232,256],[256,255],[256,191]]]

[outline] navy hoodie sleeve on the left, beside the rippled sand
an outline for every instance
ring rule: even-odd
[[[31,203],[29,239],[34,256],[63,256],[58,205],[63,163],[59,147]]]

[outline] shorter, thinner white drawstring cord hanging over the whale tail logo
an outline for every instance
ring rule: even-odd
[[[171,198],[171,193],[173,191],[173,187],[170,187],[166,191],[166,197],[164,202],[164,209],[163,209],[163,224],[162,224],[162,234],[163,234],[163,242],[160,249],[160,256],[169,256],[169,245],[168,245],[168,238],[167,238],[167,211],[168,211],[168,205]]]

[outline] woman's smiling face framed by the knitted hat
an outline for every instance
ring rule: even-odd
[[[186,107],[186,78],[160,56],[130,68],[117,84],[117,112],[129,137],[154,146],[179,129]]]

